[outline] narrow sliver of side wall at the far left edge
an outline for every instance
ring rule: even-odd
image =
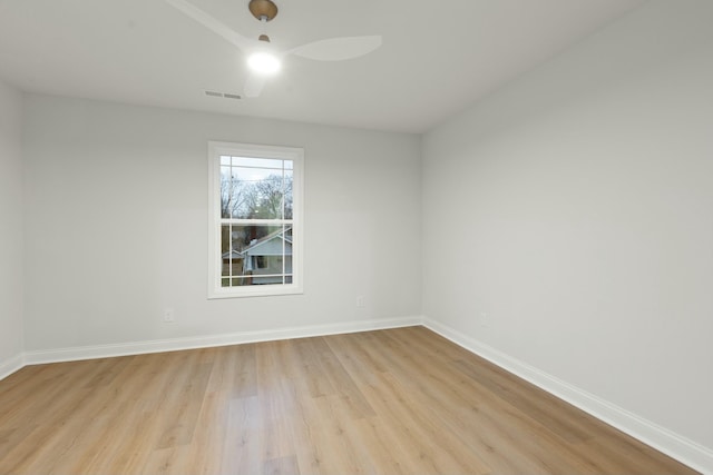
[[[0,378],[22,354],[22,96],[0,81]]]

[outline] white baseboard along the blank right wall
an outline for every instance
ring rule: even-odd
[[[704,474],[713,451],[427,317],[423,326]]]

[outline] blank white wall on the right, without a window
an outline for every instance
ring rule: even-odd
[[[423,314],[705,447],[712,26],[652,1],[422,149]]]

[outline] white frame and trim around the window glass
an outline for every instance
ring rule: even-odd
[[[292,283],[222,287],[221,250],[221,156],[292,160]],[[303,293],[303,169],[304,149],[223,141],[208,142],[208,298],[260,297]],[[271,219],[250,220],[254,225],[275,225]],[[283,221],[280,221],[281,224]]]

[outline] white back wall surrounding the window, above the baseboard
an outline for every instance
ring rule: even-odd
[[[208,140],[304,147],[304,295],[206,299]],[[23,146],[30,353],[420,315],[417,136],[29,95]]]

